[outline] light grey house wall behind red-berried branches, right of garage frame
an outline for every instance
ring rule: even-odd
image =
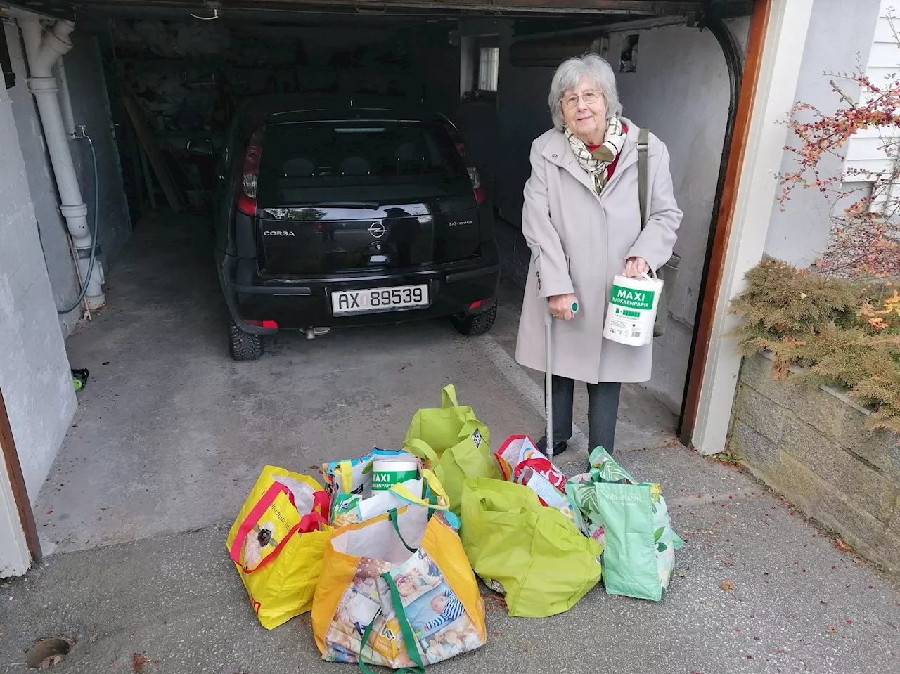
[[[847,3],[842,0],[815,0],[796,100],[811,103],[825,114],[844,106],[828,84],[833,76],[825,73],[852,72],[860,64],[867,63],[879,10],[879,0],[856,0],[852,12],[847,11]],[[835,17],[840,17],[840,21],[835,21]],[[858,88],[844,88],[851,96],[859,95]],[[787,117],[788,111],[785,111]],[[812,119],[812,116],[802,119],[807,118]],[[788,145],[797,147],[798,144],[793,135],[788,134]],[[834,156],[825,157],[820,164],[822,175],[841,175],[842,157],[846,152],[845,145]],[[785,151],[782,173],[796,170],[796,157],[793,152]],[[811,265],[822,256],[828,244],[831,208],[830,199],[824,198],[823,193],[815,189],[795,189],[790,201],[785,204],[784,212],[781,212],[781,204],[775,202],[766,238],[766,253],[792,265]]]

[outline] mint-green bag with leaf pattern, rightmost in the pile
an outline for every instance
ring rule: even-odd
[[[672,531],[660,485],[638,482],[597,447],[590,472],[566,483],[572,508],[581,510],[581,532],[603,544],[608,594],[662,599],[684,542]]]

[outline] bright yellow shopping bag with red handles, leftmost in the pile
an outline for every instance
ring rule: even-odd
[[[328,514],[319,482],[266,466],[231,526],[231,560],[266,629],[311,609],[332,530]]]

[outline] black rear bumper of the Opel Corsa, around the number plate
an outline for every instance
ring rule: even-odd
[[[394,274],[347,274],[316,278],[270,279],[260,276],[255,259],[216,252],[216,263],[231,316],[245,331],[271,334],[278,329],[336,328],[399,323],[491,309],[500,287],[500,252],[495,242],[482,244],[477,261],[433,265]],[[348,316],[331,312],[331,293],[365,288],[428,284],[428,307]],[[471,309],[474,302],[482,302]],[[278,328],[246,321],[275,321]]]

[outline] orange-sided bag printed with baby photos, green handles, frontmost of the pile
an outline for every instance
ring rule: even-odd
[[[312,607],[322,659],[421,672],[487,640],[452,513],[410,505],[329,539]]]

